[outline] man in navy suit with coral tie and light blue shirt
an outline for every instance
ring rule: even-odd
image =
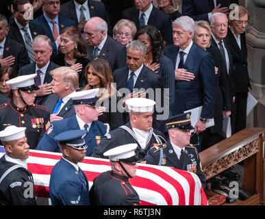
[[[60,32],[65,27],[77,26],[77,22],[58,15],[60,12],[60,0],[42,0],[42,10],[42,16],[39,16],[31,22],[36,25],[41,25],[45,29],[46,36],[52,42],[53,55],[57,55]]]

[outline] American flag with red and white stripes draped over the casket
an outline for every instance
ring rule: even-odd
[[[0,157],[4,155],[0,147]],[[61,153],[30,150],[27,168],[34,177],[38,205],[51,205],[49,180],[53,166],[61,159]],[[91,188],[93,179],[110,170],[108,159],[85,157],[78,166],[84,171]],[[201,181],[192,172],[166,166],[138,164],[136,177],[129,180],[138,193],[141,205],[207,205],[207,197]]]

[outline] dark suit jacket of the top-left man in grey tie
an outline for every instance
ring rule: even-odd
[[[19,42],[25,46],[25,41],[23,40],[23,36],[21,35],[21,31],[16,25],[14,18],[9,23],[9,31],[8,31],[8,38]],[[35,23],[29,22],[29,30],[32,37],[32,40],[38,35],[45,35],[45,30],[40,25],[36,25]],[[28,57],[28,55],[27,55]],[[28,57],[29,59],[29,57]]]

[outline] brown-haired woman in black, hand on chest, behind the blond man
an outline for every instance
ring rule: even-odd
[[[55,64],[68,66],[79,75],[79,86],[86,85],[84,69],[88,64],[86,59],[87,46],[77,27],[66,27],[60,34],[59,54],[52,59]]]

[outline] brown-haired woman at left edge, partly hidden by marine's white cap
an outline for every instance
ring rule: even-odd
[[[17,75],[16,70],[10,66],[5,66],[0,69],[0,104],[12,99],[11,86],[5,82]]]

